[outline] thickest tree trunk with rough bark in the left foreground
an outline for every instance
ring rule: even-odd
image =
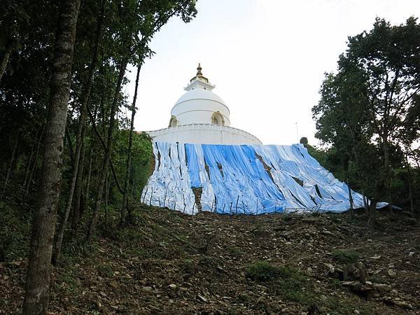
[[[50,106],[43,144],[43,172],[32,225],[23,314],[45,314],[50,300],[51,256],[62,177],[63,137],[80,0],[63,0],[50,80]]]

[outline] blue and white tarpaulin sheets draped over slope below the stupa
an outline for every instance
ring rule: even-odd
[[[350,208],[349,188],[302,145],[210,145],[155,143],[155,172],[143,201],[197,213],[192,188],[202,188],[204,211],[263,214]],[[354,207],[363,197],[351,191]]]

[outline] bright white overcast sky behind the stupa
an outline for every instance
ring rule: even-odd
[[[263,144],[317,144],[311,107],[323,73],[335,71],[347,36],[420,17],[419,0],[199,0],[197,17],[170,20],[141,70],[136,130],[167,127],[172,106],[197,72],[230,108],[232,127]],[[135,70],[126,92],[134,94]],[[131,99],[130,99],[131,102]],[[297,129],[296,129],[297,123]]]

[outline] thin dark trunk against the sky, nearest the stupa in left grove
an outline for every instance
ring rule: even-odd
[[[125,167],[125,180],[124,180],[124,191],[123,191],[123,207],[121,207],[120,214],[120,225],[123,225],[126,221],[125,208],[127,207],[127,189],[130,181],[131,173],[131,162],[132,162],[132,146],[133,146],[133,132],[134,132],[134,118],[136,116],[136,102],[137,102],[137,91],[139,90],[139,75],[140,75],[141,64],[137,65],[137,76],[136,76],[136,87],[134,88],[134,97],[132,103],[132,118],[130,122],[130,134],[128,136],[128,150],[127,150],[127,165]],[[128,218],[129,220],[131,218]]]

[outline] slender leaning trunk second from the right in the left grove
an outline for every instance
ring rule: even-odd
[[[118,73],[118,81],[116,85],[116,91],[113,96],[113,102],[111,104],[111,113],[109,117],[109,130],[108,130],[108,140],[106,144],[106,151],[104,156],[104,162],[102,165],[102,172],[98,183],[97,188],[97,198],[94,203],[94,212],[92,216],[92,221],[90,222],[89,231],[87,232],[87,241],[91,241],[94,235],[94,231],[96,230],[97,221],[99,218],[99,211],[101,209],[102,204],[102,195],[104,194],[104,186],[105,186],[105,179],[106,179],[106,172],[108,171],[109,162],[111,160],[111,153],[112,153],[112,141],[113,141],[113,128],[116,123],[116,109],[118,104],[118,97],[121,90],[121,85],[123,83],[123,78],[125,74],[125,69],[127,67],[128,58],[125,57],[123,62],[120,64],[120,71]]]

